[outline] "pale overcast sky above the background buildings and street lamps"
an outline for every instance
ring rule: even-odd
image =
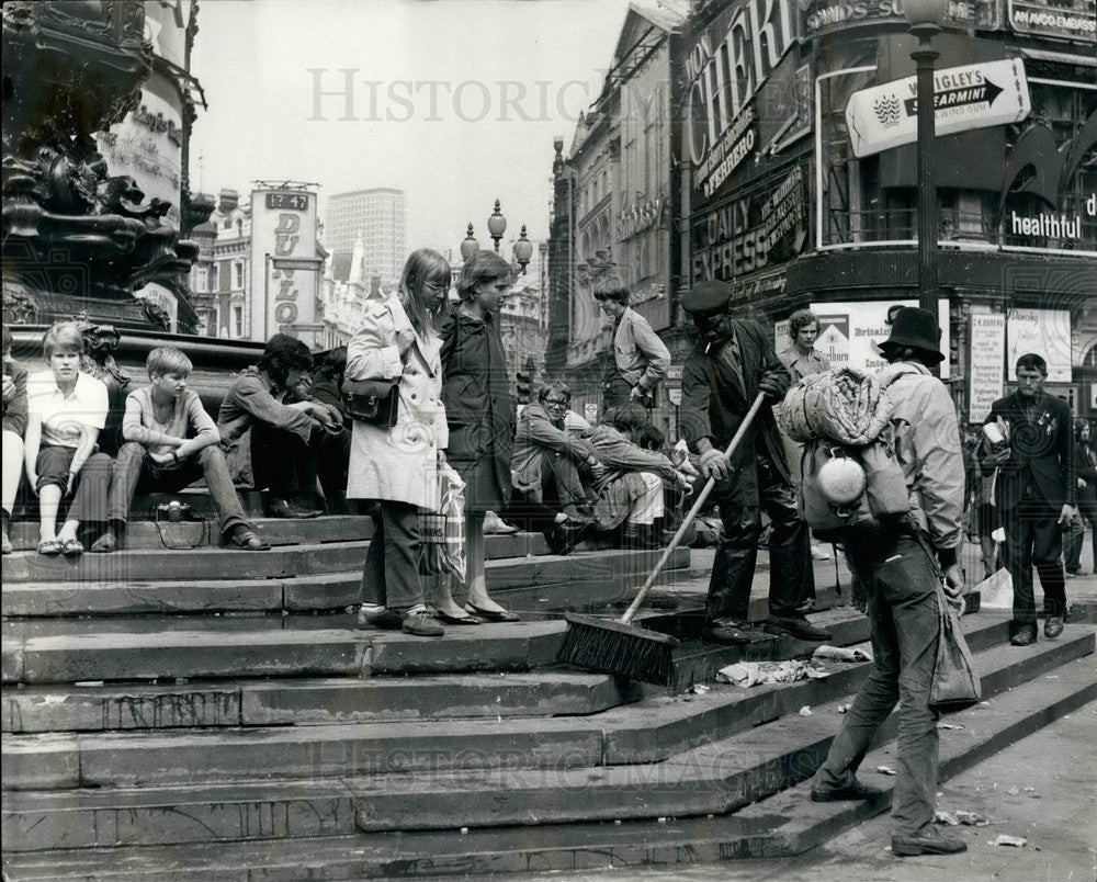
[[[627,0],[204,0],[191,186],[407,194],[408,249],[548,233],[553,138],[597,98]],[[329,94],[324,94],[329,93]]]

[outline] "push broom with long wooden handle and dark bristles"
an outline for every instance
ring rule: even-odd
[[[731,459],[735,449],[738,448],[757,416],[764,398],[765,395],[758,393],[746,417],[743,418],[743,422],[739,423],[735,437],[727,445],[727,450],[724,451],[725,459]],[[678,543],[686,535],[686,531],[693,523],[693,519],[709,498],[715,484],[714,477],[705,482],[697,501],[693,502],[693,507],[682,520],[666,551],[663,552],[663,556],[659,557],[652,575],[636,592],[635,599],[625,610],[624,615],[613,620],[598,619],[593,615],[578,615],[572,612],[564,613],[564,618],[567,620],[567,632],[564,634],[564,643],[556,654],[557,662],[643,682],[659,686],[671,685],[674,681],[671,654],[675,646],[678,645],[678,640],[669,634],[648,631],[646,627],[630,624],[630,622],[640,610],[647,592],[652,590],[655,580],[663,573],[663,568],[670,559],[670,555],[675,553]]]

